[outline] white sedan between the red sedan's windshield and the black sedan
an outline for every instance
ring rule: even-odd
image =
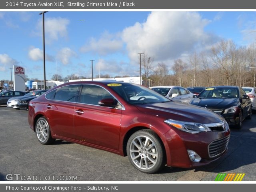
[[[150,87],[150,89],[173,101],[191,103],[191,101],[194,99],[193,93],[180,86],[155,86]]]

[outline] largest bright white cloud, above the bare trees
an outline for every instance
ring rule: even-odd
[[[144,51],[155,61],[171,60],[212,43],[215,37],[204,32],[209,22],[197,12],[152,12],[146,22],[125,28],[122,40],[133,61]]]

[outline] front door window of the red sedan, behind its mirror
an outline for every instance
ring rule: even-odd
[[[83,85],[79,103],[99,105],[102,99],[114,98],[107,90],[96,85]]]

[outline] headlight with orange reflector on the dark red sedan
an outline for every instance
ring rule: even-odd
[[[176,121],[172,119],[165,120],[164,122],[177,128],[178,130],[185,131],[192,134],[196,134],[203,131],[212,131],[210,130],[210,128],[200,123]]]

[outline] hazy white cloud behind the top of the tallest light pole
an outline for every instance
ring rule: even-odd
[[[68,37],[68,24],[70,21],[66,18],[48,18],[45,16],[44,20],[44,30],[45,30],[45,41],[51,43],[54,40]],[[42,36],[42,19],[38,20],[37,24],[38,32],[36,33],[39,36]]]

